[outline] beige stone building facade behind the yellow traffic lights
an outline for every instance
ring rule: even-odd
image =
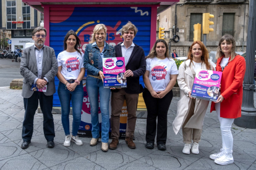
[[[202,24],[203,13],[210,13],[214,22],[207,34],[208,51],[216,51],[220,38],[228,33],[236,39],[236,51],[246,51],[249,0],[180,0],[176,6],[169,7],[157,17],[157,30],[164,28],[164,39],[169,42],[174,35],[179,41],[171,41],[171,51],[176,49],[179,57],[187,56],[194,41],[194,24]],[[178,40],[176,36],[175,41]],[[203,41],[203,34],[201,34]]]

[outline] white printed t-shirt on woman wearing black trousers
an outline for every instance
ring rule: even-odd
[[[173,59],[153,59],[146,60],[146,70],[150,71],[148,78],[155,92],[164,91],[169,84],[170,75],[178,75],[177,65]]]

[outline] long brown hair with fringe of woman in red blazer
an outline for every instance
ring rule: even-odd
[[[231,59],[229,60],[229,62],[231,62],[232,60],[234,60],[234,57],[236,57],[236,40],[234,39],[233,36],[231,36],[231,34],[224,34],[223,37],[221,37],[220,39],[220,42],[219,42],[219,45],[217,47],[217,54],[216,54],[216,59],[220,59],[223,55],[224,55],[224,52],[221,51],[221,43],[226,40],[226,42],[229,42],[232,44],[232,47],[231,47]]]

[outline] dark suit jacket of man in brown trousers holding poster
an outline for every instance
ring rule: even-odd
[[[135,44],[135,43],[134,43]],[[116,57],[124,57],[122,56],[121,43],[117,44],[114,47],[116,51]],[[143,92],[143,87],[140,84],[140,76],[144,75],[146,71],[146,60],[145,54],[142,47],[135,44],[134,50],[130,55],[130,59],[126,65],[126,70],[131,70],[134,73],[134,76],[127,77],[127,87],[124,89],[128,94],[140,94]],[[112,91],[117,92],[118,89]]]

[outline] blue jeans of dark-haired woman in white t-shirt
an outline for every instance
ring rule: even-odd
[[[74,83],[74,82],[72,82]],[[73,112],[73,124],[72,124],[72,136],[77,136],[81,122],[81,112],[83,104],[83,83],[75,87],[75,90],[70,92],[66,89],[65,84],[59,81],[58,87],[59,100],[61,101],[61,121],[65,132],[65,135],[70,135],[69,131],[69,112],[70,112],[70,101],[72,102]]]

